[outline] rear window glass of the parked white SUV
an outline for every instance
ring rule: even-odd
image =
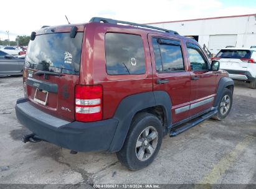
[[[223,49],[217,53],[218,58],[250,58],[250,50],[227,50]]]

